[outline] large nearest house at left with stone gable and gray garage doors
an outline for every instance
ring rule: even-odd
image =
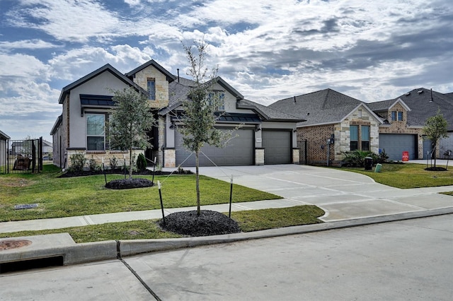
[[[174,126],[181,101],[187,98],[191,85],[193,81],[173,76],[154,60],[124,75],[107,64],[67,85],[59,97],[63,113],[50,133],[53,163],[68,167],[75,153],[84,153],[88,160],[93,158],[98,164],[103,160],[108,163],[113,156],[120,159],[120,164],[122,160],[127,161],[127,152],[109,149],[105,124],[109,111],[115,107],[113,90],[134,87],[149,96],[150,114],[158,120],[148,133],[153,147],[137,152],[144,153],[149,160],[157,158],[161,166],[193,166],[194,156],[182,147],[182,137]],[[226,148],[205,146],[202,152],[210,160],[202,159],[200,165],[212,165],[211,160],[216,165],[299,162],[294,130],[302,119],[244,100],[222,78],[218,78],[213,93],[222,93],[224,99],[224,106],[219,108],[224,114],[217,126],[222,129],[243,126]]]

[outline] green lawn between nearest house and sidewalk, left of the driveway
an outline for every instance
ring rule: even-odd
[[[0,175],[0,221],[61,218],[98,213],[142,211],[160,208],[159,190],[106,189],[103,175],[58,178],[59,168],[44,165],[41,174]],[[122,175],[107,175],[108,181]],[[139,176],[151,179],[150,176]],[[195,175],[154,177],[161,182],[164,207],[196,206]],[[201,204],[229,202],[229,182],[200,176]],[[256,189],[234,185],[233,202],[281,199]],[[38,203],[38,208],[16,210],[15,205]]]

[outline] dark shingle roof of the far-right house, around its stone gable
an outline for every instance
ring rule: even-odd
[[[399,96],[406,105],[411,108],[408,112],[408,126],[424,126],[428,117],[435,116],[437,109],[440,109],[445,119],[447,119],[448,130],[453,131],[453,98],[452,93],[438,93],[425,88],[413,89],[408,93]],[[385,107],[398,100],[383,100],[381,102],[371,102],[369,107]],[[388,108],[388,107],[387,107]]]

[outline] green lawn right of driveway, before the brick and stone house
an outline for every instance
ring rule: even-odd
[[[425,170],[426,165],[415,163],[382,165],[381,172],[364,170],[363,167],[341,167],[341,170],[350,170],[367,175],[374,181],[396,188],[419,188],[453,185],[453,167],[447,171],[431,172]],[[443,166],[445,167],[445,166]]]

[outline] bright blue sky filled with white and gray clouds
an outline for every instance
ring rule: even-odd
[[[451,0],[0,0],[0,131],[43,136],[62,88],[154,59],[185,74],[182,43],[268,105],[325,88],[365,102],[453,92]]]

